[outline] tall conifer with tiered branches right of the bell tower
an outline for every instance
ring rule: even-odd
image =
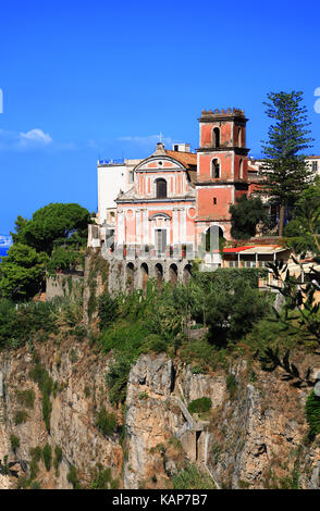
[[[284,213],[293,207],[299,194],[312,182],[313,172],[301,153],[312,147],[307,122],[307,109],[301,105],[303,92],[269,92],[267,115],[274,120],[263,141],[264,154],[261,175],[263,192],[280,207],[279,236],[283,235]]]

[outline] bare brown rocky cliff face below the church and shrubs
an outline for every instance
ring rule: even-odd
[[[101,465],[111,469],[120,487],[164,488],[186,462],[198,464],[220,488],[319,488],[319,439],[305,440],[309,389],[281,382],[276,372],[254,371],[237,359],[229,371],[193,374],[164,353],[141,356],[130,373],[125,410],[113,408],[119,428],[106,436],[96,422],[99,410],[111,410],[109,359],[84,341],[49,340],[35,349],[53,382],[50,431],[44,390],[30,375],[37,363],[33,352],[27,347],[1,352],[0,460],[28,463],[25,474],[22,463],[12,466],[16,474],[0,475],[0,488],[14,488],[17,476],[28,476],[30,448],[46,444],[52,452],[60,447],[62,459],[49,471],[38,461],[42,488],[71,488],[71,465],[85,487]],[[33,407],[25,390],[34,392]],[[211,399],[211,410],[190,414],[187,404],[202,397]],[[15,453],[12,435],[20,441]]]

